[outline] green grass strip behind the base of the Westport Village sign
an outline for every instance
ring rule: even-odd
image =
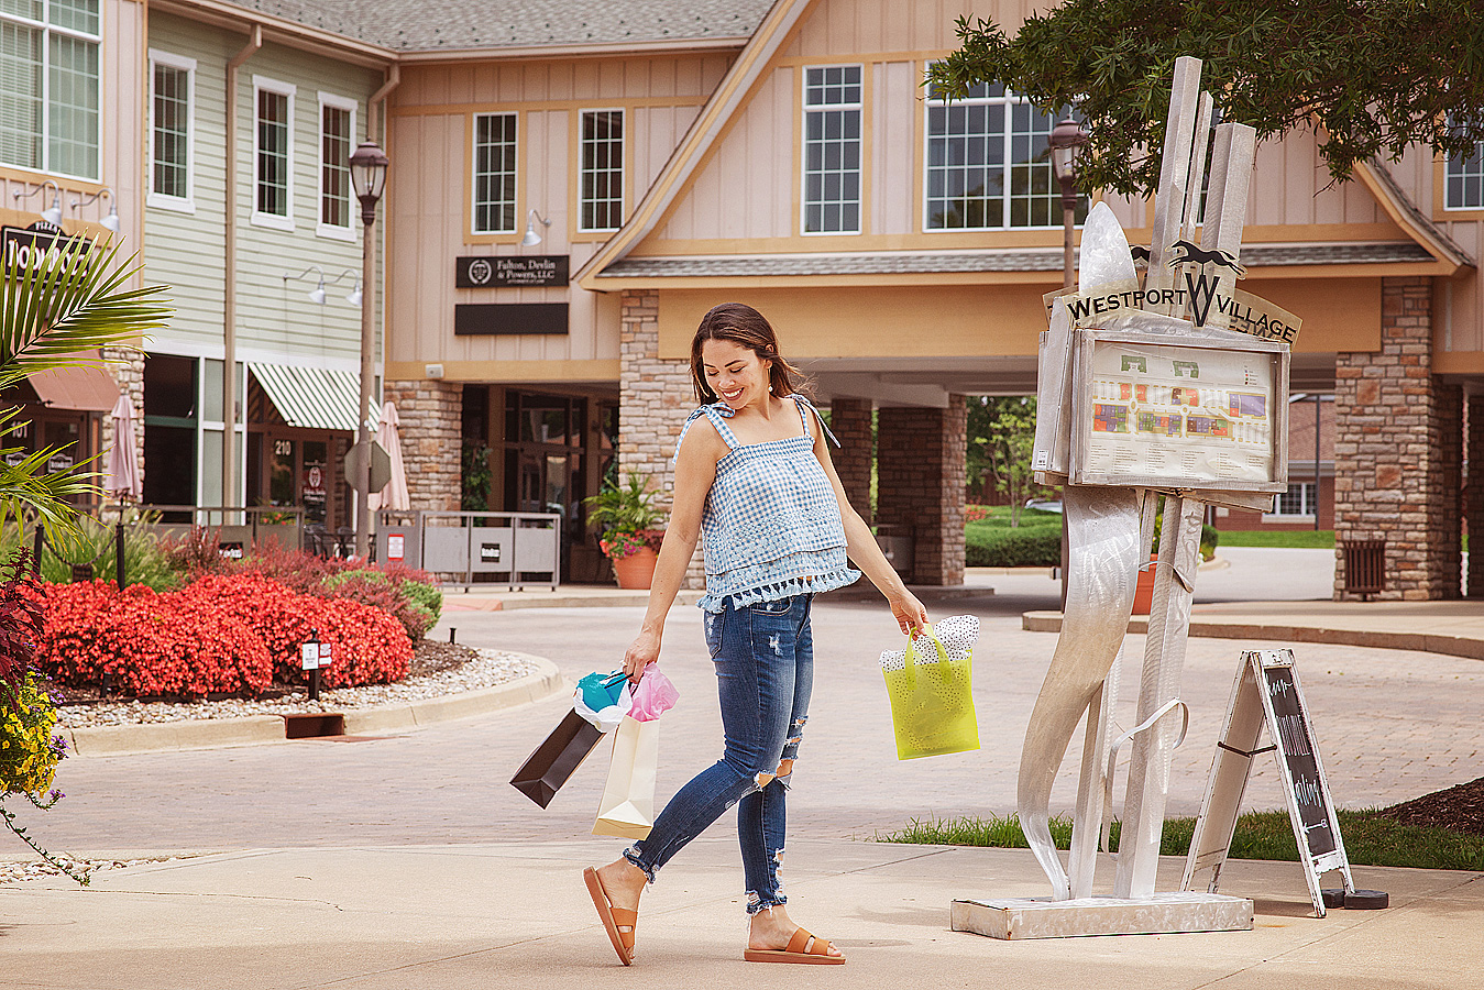
[[[1171,818],[1159,852],[1166,856],[1184,856],[1190,849],[1190,836],[1196,819]],[[1447,828],[1420,828],[1402,825],[1374,810],[1342,810],[1340,836],[1352,865],[1359,867],[1410,867],[1414,870],[1484,870],[1484,836],[1450,831]],[[1071,845],[1071,821],[1051,819],[1051,837],[1058,849]],[[1119,822],[1113,822],[1110,845],[1117,850]],[[994,846],[1000,849],[1025,849],[1020,819],[1015,815],[999,818],[914,818],[901,831],[877,834],[876,842],[901,842],[932,846]],[[1236,834],[1232,837],[1233,859],[1287,859],[1298,861],[1293,825],[1288,812],[1248,812],[1236,819]]]

